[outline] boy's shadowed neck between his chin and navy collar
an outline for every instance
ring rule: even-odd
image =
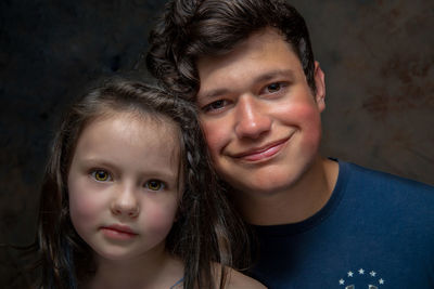
[[[238,192],[241,213],[254,225],[281,225],[302,222],[330,199],[337,180],[337,162],[319,155],[294,186],[268,195]]]

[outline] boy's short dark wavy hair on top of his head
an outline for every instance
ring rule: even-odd
[[[285,0],[171,0],[151,31],[146,66],[169,89],[195,97],[201,56],[230,52],[253,32],[279,31],[316,91],[315,60],[303,16]]]

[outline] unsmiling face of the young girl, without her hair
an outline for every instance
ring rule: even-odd
[[[97,258],[158,257],[175,221],[177,127],[113,113],[81,132],[68,173],[71,219]]]

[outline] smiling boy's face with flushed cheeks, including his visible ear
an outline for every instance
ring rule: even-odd
[[[218,173],[246,194],[290,189],[318,157],[324,109],[319,66],[312,95],[290,45],[265,29],[228,54],[199,58],[197,69],[196,103]]]

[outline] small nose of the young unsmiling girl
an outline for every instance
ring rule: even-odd
[[[140,208],[133,189],[123,187],[116,192],[116,196],[112,201],[111,210],[115,215],[137,218],[140,213]]]

